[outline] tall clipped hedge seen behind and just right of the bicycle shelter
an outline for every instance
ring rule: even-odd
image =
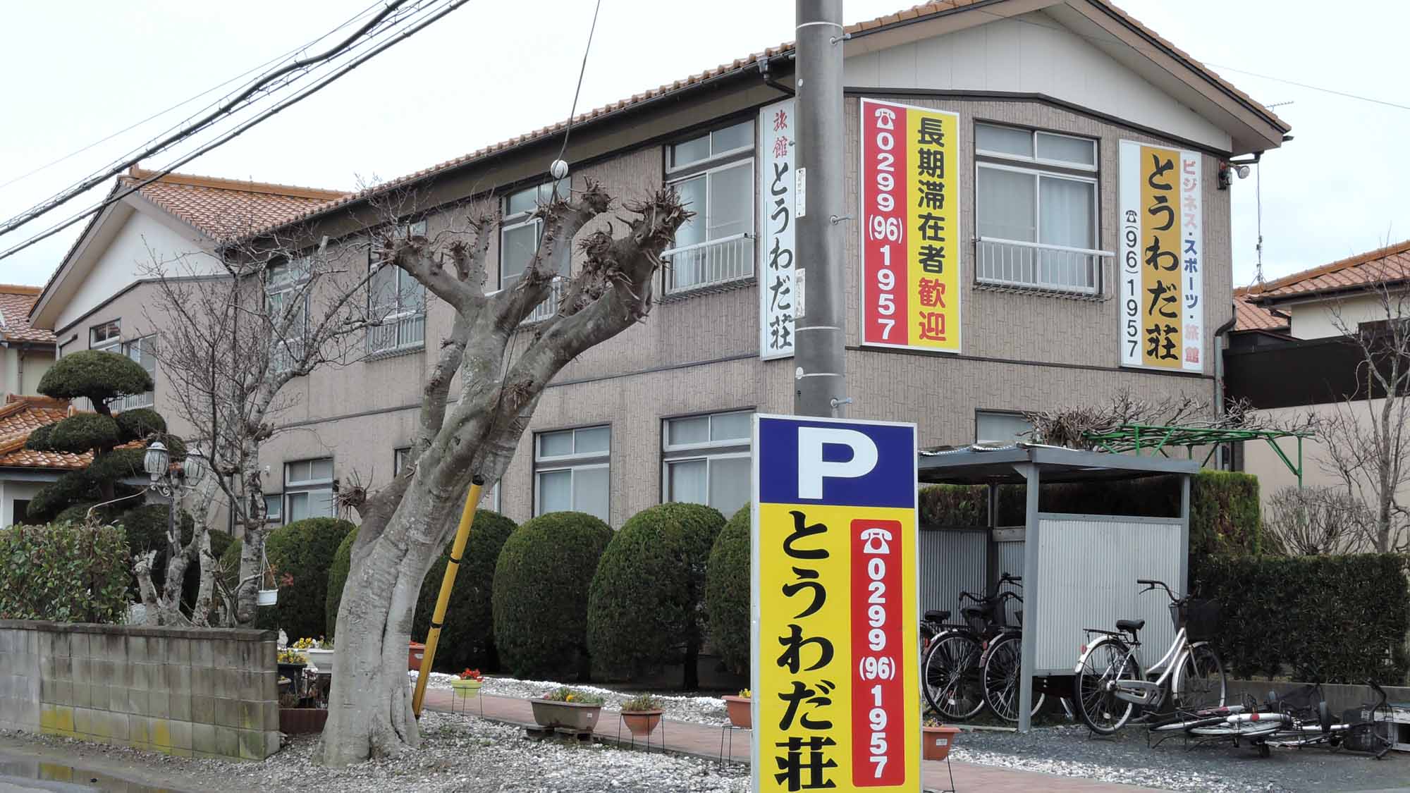
[[[1038,507],[1045,512],[1081,515],[1180,514],[1180,481],[1148,477],[1114,483],[1042,485]],[[998,488],[998,525],[1024,523],[1026,488]],[[931,485],[921,490],[921,523],[983,526],[988,523],[984,485]],[[1237,471],[1201,470],[1190,478],[1190,553],[1248,555],[1259,552],[1258,477]]]

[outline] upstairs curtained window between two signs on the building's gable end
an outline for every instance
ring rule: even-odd
[[[1097,141],[976,124],[981,284],[1100,291]]]

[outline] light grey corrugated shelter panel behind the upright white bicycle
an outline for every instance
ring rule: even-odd
[[[1138,594],[1136,579],[1156,579],[1184,594],[1180,577],[1180,523],[1139,519],[1039,521],[1038,618],[1035,665],[1072,669],[1083,628],[1115,629],[1117,619],[1145,619],[1142,667],[1160,659],[1175,641],[1170,600],[1163,590]],[[1032,584],[1025,581],[1032,594]],[[1032,598],[1028,611],[1032,610]]]

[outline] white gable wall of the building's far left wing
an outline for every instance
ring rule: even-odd
[[[195,255],[189,255],[195,254]],[[83,255],[93,255],[85,251]],[[68,327],[70,323],[93,310],[128,284],[144,277],[154,258],[168,265],[171,275],[188,275],[190,267],[214,271],[217,260],[202,251],[202,237],[188,229],[182,236],[162,219],[138,209],[103,250],[96,264],[83,278],[73,298],[59,312],[54,327]],[[178,257],[188,255],[186,262]]]

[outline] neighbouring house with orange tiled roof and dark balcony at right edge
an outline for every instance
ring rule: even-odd
[[[1389,293],[1390,309],[1378,296]],[[1239,325],[1225,351],[1227,391],[1244,398],[1269,418],[1293,422],[1308,415],[1330,416],[1351,401],[1354,415],[1382,405],[1368,396],[1361,351],[1345,340],[1351,332],[1375,330],[1389,319],[1410,319],[1410,241],[1314,267],[1303,272],[1239,289]],[[1404,315],[1390,317],[1396,309]],[[1371,325],[1365,325],[1371,323]],[[1410,364],[1410,361],[1407,361]],[[1296,444],[1282,442],[1289,457]],[[1323,470],[1324,444],[1308,439],[1303,446],[1303,484],[1340,484]],[[1265,502],[1279,488],[1297,480],[1263,443],[1242,452],[1241,467],[1258,474]],[[1410,487],[1400,491],[1410,504]]]

